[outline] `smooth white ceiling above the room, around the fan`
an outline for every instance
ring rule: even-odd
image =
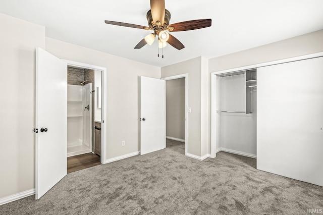
[[[212,19],[209,28],[171,33],[185,48],[157,42],[134,49],[148,33],[107,25],[104,20],[147,26],[149,0],[0,0],[0,13],[46,27],[46,36],[163,67],[198,56],[206,58],[268,44],[323,29],[322,0],[165,0],[170,23]],[[160,50],[161,51],[161,50]]]

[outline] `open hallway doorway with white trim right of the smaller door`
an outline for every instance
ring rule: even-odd
[[[187,73],[162,80],[166,81],[166,138],[184,142],[187,155]]]

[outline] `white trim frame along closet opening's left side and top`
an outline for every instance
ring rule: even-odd
[[[212,72],[211,75],[211,158],[216,157],[216,153],[220,150],[217,150],[217,133],[216,133],[216,127],[217,127],[217,111],[216,111],[216,76],[219,74],[224,74],[224,73],[230,73],[230,72],[238,72],[242,70],[248,70],[248,69],[254,69],[254,68],[259,68],[259,67],[265,67],[265,66],[272,66],[276,64],[284,64],[288,62],[293,62],[293,61],[301,61],[305,59],[311,59],[311,58],[319,58],[323,56],[323,52],[317,52],[317,53],[312,53],[309,55],[303,55],[303,56],[298,56],[298,57],[293,57],[293,58],[287,58],[287,59],[282,59],[282,60],[277,60],[277,61],[270,61],[270,62],[265,62],[265,63],[260,63],[260,64],[253,64],[249,66],[244,66],[244,67],[238,67],[238,68],[233,68],[233,69],[228,69],[228,70],[222,70],[218,72]]]

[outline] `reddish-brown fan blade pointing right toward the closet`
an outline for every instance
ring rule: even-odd
[[[167,28],[173,27],[174,30],[170,31],[189,31],[195,30],[200,28],[207,28],[210,27],[212,24],[211,19],[197,19],[197,20],[190,20],[185,22],[179,22],[175,24],[169,25]]]

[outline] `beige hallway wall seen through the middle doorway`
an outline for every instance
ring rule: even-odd
[[[185,78],[166,81],[166,136],[185,140]]]

